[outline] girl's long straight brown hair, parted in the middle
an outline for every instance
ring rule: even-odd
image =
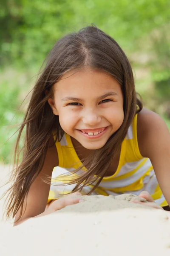
[[[84,66],[104,70],[119,82],[124,97],[124,120],[108,142],[102,148],[94,150],[85,160],[84,165],[88,172],[82,172],[71,182],[77,183],[74,191],[81,190],[89,183],[95,182],[91,192],[98,186],[124,140],[135,113],[141,111],[142,103],[136,97],[130,63],[113,38],[96,26],[87,26],[57,41],[48,54],[46,66],[33,88],[28,109],[19,129],[15,147],[13,185],[8,189],[7,218],[11,214],[14,217],[20,207],[21,212],[23,211],[24,199],[42,169],[52,130],[56,131],[57,140],[59,135],[62,137],[64,134],[59,124],[59,117],[53,114],[47,102],[53,93],[54,83],[67,71],[81,69]],[[19,164],[19,143],[25,127],[23,160]]]

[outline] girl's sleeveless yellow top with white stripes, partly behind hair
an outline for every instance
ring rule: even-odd
[[[56,147],[59,166],[55,167],[52,173],[48,202],[72,191],[75,184],[67,184],[69,180],[75,179],[78,173],[72,174],[71,171],[82,166],[68,134],[64,134],[60,142],[56,142]],[[87,170],[83,167],[82,171]],[[92,187],[93,185],[85,186],[81,193],[87,194]],[[104,177],[91,195],[116,196],[125,193],[139,195],[143,190],[147,190],[161,207],[168,205],[159,187],[150,159],[140,154],[136,114],[122,142],[116,172],[112,176]]]

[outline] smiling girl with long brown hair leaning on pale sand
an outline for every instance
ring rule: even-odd
[[[23,160],[8,190],[7,216],[16,223],[79,202],[71,192],[133,193],[148,206],[170,205],[168,128],[142,108],[125,53],[96,27],[66,35],[49,53],[16,155],[25,126]]]

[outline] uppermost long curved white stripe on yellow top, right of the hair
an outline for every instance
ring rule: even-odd
[[[132,176],[121,180],[101,182],[99,186],[106,189],[122,188],[125,186],[129,186],[130,184],[133,184],[136,180],[139,180],[139,178],[142,177],[149,168],[150,160],[148,159],[146,163],[141,168],[139,168],[139,170],[137,170],[137,172],[135,172]]]

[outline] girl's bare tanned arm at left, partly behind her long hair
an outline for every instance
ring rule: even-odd
[[[45,183],[42,179],[46,175],[51,177],[53,168],[55,166],[58,166],[58,154],[57,154],[56,145],[54,143],[54,139],[52,136],[49,141],[49,145],[52,145],[52,146],[48,147],[43,168],[40,174],[38,175],[38,177],[36,178],[36,180],[34,181],[34,183],[31,185],[28,192],[28,196],[24,201],[23,209],[25,209],[25,205],[26,205],[26,210],[18,222],[17,222],[17,219],[20,215],[20,211],[18,211],[15,216],[14,222],[15,223],[17,222],[16,224],[19,224],[28,218],[40,215],[45,210],[45,207],[48,201],[50,184]],[[26,201],[27,201],[27,204],[26,204]],[[46,213],[44,212],[44,215],[46,215],[47,213],[49,212],[46,212]]]

